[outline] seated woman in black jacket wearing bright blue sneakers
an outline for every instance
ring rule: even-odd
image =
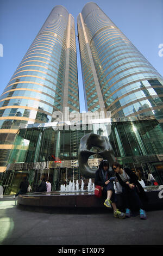
[[[146,212],[143,208],[142,200],[147,200],[147,196],[138,177],[129,168],[122,168],[120,163],[112,163],[112,169],[122,186],[124,201],[126,204],[126,216],[131,216],[131,205],[134,204],[140,209],[140,218],[146,219]]]

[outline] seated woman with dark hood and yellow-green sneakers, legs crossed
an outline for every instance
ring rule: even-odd
[[[95,176],[95,185],[102,186],[103,188],[103,196],[106,196],[106,200],[104,205],[108,208],[112,208],[114,210],[114,217],[116,218],[125,218],[125,214],[119,211],[116,207],[116,194],[114,190],[113,181],[116,177],[112,178],[112,173],[109,172],[109,162],[107,160],[102,160],[99,164],[99,168],[96,171]]]

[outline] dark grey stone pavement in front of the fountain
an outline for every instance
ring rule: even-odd
[[[163,210],[120,220],[108,214],[47,214],[0,199],[0,245],[162,245]]]

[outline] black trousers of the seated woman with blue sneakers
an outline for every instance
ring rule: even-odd
[[[122,192],[125,208],[143,209],[143,204],[137,192],[136,186],[133,189],[122,187]]]

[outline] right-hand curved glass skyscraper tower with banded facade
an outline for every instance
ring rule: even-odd
[[[77,17],[87,111],[163,121],[163,78],[106,16],[87,3]]]

